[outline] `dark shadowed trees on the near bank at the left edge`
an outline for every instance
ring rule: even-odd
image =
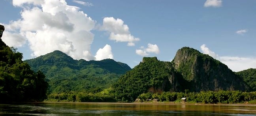
[[[16,48],[1,44],[0,57],[0,103],[46,98],[48,83],[44,74],[32,71]]]

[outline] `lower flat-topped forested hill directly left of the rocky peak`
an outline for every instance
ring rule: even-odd
[[[113,85],[112,92],[118,101],[134,101],[141,93],[156,92],[158,88],[168,91],[168,78],[171,77],[172,70],[170,62],[160,62],[156,57],[143,58],[143,62],[119,78]],[[162,86],[163,84],[166,86]]]

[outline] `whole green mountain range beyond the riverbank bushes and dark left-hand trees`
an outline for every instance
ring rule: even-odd
[[[50,93],[96,93],[112,87],[118,99],[134,101],[143,92],[256,91],[256,69],[233,72],[189,47],[179,49],[172,62],[144,57],[134,69],[112,59],[73,60],[61,51],[24,62],[45,74]]]

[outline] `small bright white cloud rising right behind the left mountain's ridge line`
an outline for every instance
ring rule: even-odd
[[[114,56],[111,52],[110,45],[105,45],[103,48],[100,48],[95,55],[95,60],[104,60],[107,58],[109,58],[109,59],[114,58]]]

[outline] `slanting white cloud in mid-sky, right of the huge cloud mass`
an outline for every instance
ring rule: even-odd
[[[128,46],[134,46],[134,42],[139,41],[139,38],[130,34],[128,25],[124,25],[124,21],[119,18],[105,17],[100,29],[110,33],[110,40],[114,40],[115,42],[128,42]]]

